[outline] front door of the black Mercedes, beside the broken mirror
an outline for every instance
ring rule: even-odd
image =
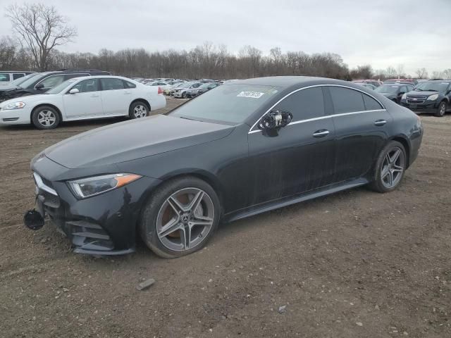
[[[324,187],[335,171],[335,127],[326,115],[321,87],[294,92],[273,110],[290,111],[293,119],[276,134],[249,132],[250,204]]]

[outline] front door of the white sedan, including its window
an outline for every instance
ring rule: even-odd
[[[69,90],[76,88],[77,94],[69,94]],[[104,115],[99,92],[99,79],[82,80],[71,87],[63,95],[66,118],[94,118]]]

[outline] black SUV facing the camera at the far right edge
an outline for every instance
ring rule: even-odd
[[[402,95],[401,105],[416,113],[433,113],[442,117],[451,109],[451,81],[420,82],[414,90]]]

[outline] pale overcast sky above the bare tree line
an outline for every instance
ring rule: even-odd
[[[0,0],[0,36],[11,35]],[[17,1],[19,4],[24,1]],[[33,2],[33,1],[28,1]],[[351,68],[451,68],[451,0],[46,0],[78,28],[62,51],[192,49],[205,41],[340,54]]]

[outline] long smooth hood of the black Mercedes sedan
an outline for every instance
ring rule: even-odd
[[[233,126],[168,115],[115,123],[70,137],[44,154],[66,168],[132,161],[226,137]]]

